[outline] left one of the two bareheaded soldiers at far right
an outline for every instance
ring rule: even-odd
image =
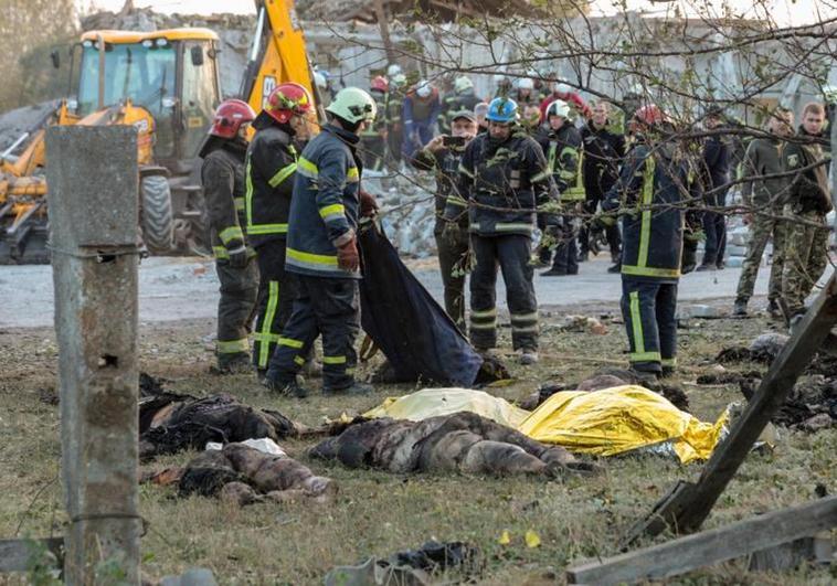
[[[770,137],[759,137],[750,141],[741,163],[741,196],[748,212],[744,222],[750,230],[746,257],[741,267],[733,316],[746,316],[746,303],[753,296],[759,267],[767,242],[773,239],[773,263],[767,286],[767,312],[773,318],[782,317],[782,273],[785,266],[785,233],[787,226],[782,221],[787,194],[787,178],[763,179],[765,175],[782,173],[782,150],[785,138],[793,134],[793,113],[777,109],[767,120]]]

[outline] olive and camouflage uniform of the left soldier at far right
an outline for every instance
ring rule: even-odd
[[[782,204],[786,199],[787,180],[785,178],[759,179],[782,172],[782,145],[778,138],[756,138],[750,142],[741,161],[741,178],[752,179],[743,184],[741,195],[744,204],[753,210],[750,244],[741,267],[737,292],[737,300],[744,303],[753,295],[764,247],[771,237],[773,238],[773,266],[770,270],[767,298],[777,302],[782,297],[787,226],[780,216]]]

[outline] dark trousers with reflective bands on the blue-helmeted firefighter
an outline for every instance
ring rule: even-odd
[[[529,236],[470,237],[477,266],[470,274],[470,341],[479,349],[497,345],[497,268],[506,283],[515,350],[538,349],[538,300],[534,297]]]

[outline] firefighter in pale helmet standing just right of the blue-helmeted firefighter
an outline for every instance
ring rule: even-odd
[[[564,212],[560,225],[550,224],[547,219],[555,215],[541,214],[540,226],[554,244],[541,246],[540,260],[549,265],[552,248],[555,256],[552,268],[541,273],[543,277],[559,277],[579,274],[578,237],[579,214],[584,205],[584,184],[581,172],[581,134],[570,121],[570,105],[561,99],[554,100],[547,108],[549,132],[540,142],[547,156],[549,170],[560,194],[561,209]]]

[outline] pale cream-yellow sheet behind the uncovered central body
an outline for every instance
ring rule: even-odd
[[[530,412],[516,407],[505,398],[469,388],[425,388],[403,397],[390,397],[364,417],[392,417],[421,422],[438,415],[467,411],[517,429]]]

